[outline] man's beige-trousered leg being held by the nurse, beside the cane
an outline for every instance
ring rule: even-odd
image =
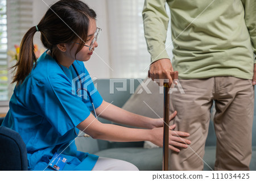
[[[169,170],[203,170],[214,78],[180,79],[179,82],[185,94],[175,91],[170,95],[170,110],[177,111],[170,124],[176,124],[175,131],[188,132],[191,145],[180,153],[170,151]]]

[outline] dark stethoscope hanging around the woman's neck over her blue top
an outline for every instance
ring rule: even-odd
[[[55,61],[56,61],[57,64],[60,66],[60,68],[61,68],[61,70],[64,72],[64,74],[68,77],[68,75],[65,73],[65,71],[64,71],[64,69],[62,68],[62,66],[60,65],[60,63],[59,63],[56,59],[55,59]],[[90,96],[90,92],[89,92],[87,89],[85,89],[84,86],[82,85],[81,77],[80,77],[80,75],[79,75],[79,73],[78,73],[78,71],[77,71],[77,69],[76,69],[76,67],[75,67],[74,64],[72,64],[72,67],[73,67],[73,69],[75,70],[76,75],[77,75],[77,78],[79,79],[79,83],[80,83],[80,88],[76,90],[76,94],[78,95],[78,92],[81,91],[81,90],[84,90],[84,91],[87,92],[87,94],[88,94],[88,96],[89,96],[89,99],[90,99],[90,103],[92,103],[92,106],[93,106],[94,115],[95,115],[96,119],[98,119],[98,116],[97,116],[97,113],[96,113],[96,111],[95,111],[95,107],[94,107],[94,104],[93,104],[93,101],[92,101],[92,97]],[[81,95],[81,96],[82,96],[82,95]],[[76,133],[76,130],[75,130],[75,133]],[[90,137],[90,136],[89,136],[88,134],[86,134],[86,133],[85,133],[84,135],[82,135],[82,136],[79,136],[79,134],[77,134],[77,133],[76,133],[76,135],[77,135],[77,137]]]

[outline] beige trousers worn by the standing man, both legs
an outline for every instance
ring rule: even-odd
[[[175,130],[189,132],[190,148],[170,151],[169,170],[203,170],[210,108],[216,105],[217,137],[213,170],[249,170],[253,126],[254,87],[251,80],[235,77],[179,79],[185,91],[173,91],[170,109],[177,111]],[[170,124],[172,124],[171,121]]]

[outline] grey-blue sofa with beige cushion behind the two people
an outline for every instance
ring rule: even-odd
[[[115,106],[143,116],[163,117],[163,89],[150,79],[97,79],[94,81],[102,98]],[[154,110],[152,111],[151,110]],[[255,109],[255,108],[254,108]],[[253,124],[253,154],[250,170],[256,170],[256,111]],[[212,115],[214,109],[212,109]],[[102,123],[111,123],[99,118]],[[111,123],[114,124],[114,123]],[[79,151],[96,154],[100,157],[122,159],[133,163],[139,170],[162,170],[163,151],[150,142],[111,142],[94,140],[89,137],[77,137]],[[216,136],[213,121],[210,121],[205,144],[204,170],[213,170],[215,162]],[[200,159],[200,158],[199,158]],[[171,163],[170,163],[171,164]]]

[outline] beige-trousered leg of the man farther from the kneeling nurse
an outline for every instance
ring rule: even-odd
[[[254,88],[251,80],[216,77],[215,170],[249,170]]]

